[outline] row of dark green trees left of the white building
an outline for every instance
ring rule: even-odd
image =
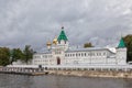
[[[24,51],[20,48],[10,50],[8,47],[0,47],[0,66],[6,66],[16,62],[18,59],[28,63],[33,58],[33,50],[30,45],[25,45]]]

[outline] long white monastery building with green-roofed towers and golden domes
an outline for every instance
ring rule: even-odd
[[[127,65],[127,47],[123,38],[117,47],[70,48],[67,35],[62,28],[58,37],[47,42],[47,51],[33,55],[32,65],[42,66],[87,66]]]

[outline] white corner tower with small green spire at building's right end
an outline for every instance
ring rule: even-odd
[[[127,64],[127,47],[125,47],[125,43],[122,37],[117,47],[117,63],[120,65]]]

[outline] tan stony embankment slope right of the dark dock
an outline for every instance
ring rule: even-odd
[[[48,70],[48,74],[79,77],[132,78],[132,72],[119,70]]]

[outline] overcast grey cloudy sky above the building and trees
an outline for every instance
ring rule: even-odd
[[[0,0],[0,46],[40,51],[62,26],[70,45],[117,45],[132,33],[132,0]]]

